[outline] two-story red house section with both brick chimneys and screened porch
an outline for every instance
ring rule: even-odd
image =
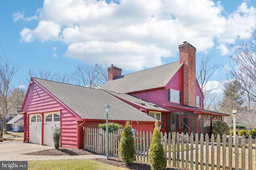
[[[147,114],[162,121],[162,132],[211,134],[212,124],[224,113],[204,110],[204,96],[196,80],[196,48],[186,41],[179,46],[180,61],[122,75],[108,68],[108,82],[101,89],[129,94],[170,112]]]

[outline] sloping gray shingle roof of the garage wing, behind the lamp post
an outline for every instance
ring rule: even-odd
[[[110,120],[155,121],[154,118],[100,89],[86,88],[34,78],[46,90],[76,112],[82,119],[106,119],[104,106],[110,106]]]

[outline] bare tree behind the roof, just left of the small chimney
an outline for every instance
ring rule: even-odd
[[[100,64],[78,65],[71,80],[78,86],[99,88],[108,80],[107,66]]]

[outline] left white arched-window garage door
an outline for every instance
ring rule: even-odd
[[[41,144],[42,116],[40,114],[29,115],[29,142]]]

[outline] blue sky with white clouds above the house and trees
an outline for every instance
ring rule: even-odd
[[[197,66],[202,55],[220,65],[210,80],[218,82],[250,37],[256,1],[4,0],[0,21],[0,45],[20,64],[21,86],[28,69],[71,74],[78,64],[108,63],[128,74],[172,63],[183,41],[196,47]]]

